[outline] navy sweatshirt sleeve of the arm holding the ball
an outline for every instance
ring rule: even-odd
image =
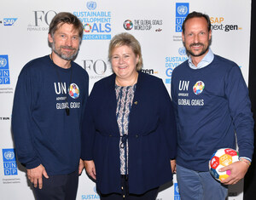
[[[239,66],[232,66],[225,77],[225,95],[229,101],[240,157],[253,157],[253,113],[247,85]]]

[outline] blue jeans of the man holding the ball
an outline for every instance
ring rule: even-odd
[[[197,172],[177,165],[177,184],[181,200],[224,200],[228,186],[214,180],[209,172]]]

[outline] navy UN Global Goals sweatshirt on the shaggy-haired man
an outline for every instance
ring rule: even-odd
[[[18,159],[26,169],[43,164],[49,175],[78,169],[88,82],[81,66],[72,61],[69,69],[63,69],[49,55],[28,62],[20,71],[12,130]]]

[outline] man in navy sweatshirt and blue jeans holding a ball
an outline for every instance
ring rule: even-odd
[[[225,199],[227,185],[247,173],[253,155],[253,117],[247,85],[239,66],[212,53],[207,14],[190,13],[183,21],[183,44],[189,54],[172,73],[177,117],[177,183],[181,199]],[[220,148],[236,149],[240,161],[224,167],[230,176],[218,182],[208,162]]]

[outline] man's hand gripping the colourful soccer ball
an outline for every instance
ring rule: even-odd
[[[237,161],[235,163],[231,163],[229,166],[219,169],[219,171],[222,171],[222,172],[230,170],[230,176],[225,180],[221,180],[221,183],[223,183],[224,185],[236,184],[239,180],[241,180],[245,176],[248,168],[249,168],[248,163],[244,161]]]

